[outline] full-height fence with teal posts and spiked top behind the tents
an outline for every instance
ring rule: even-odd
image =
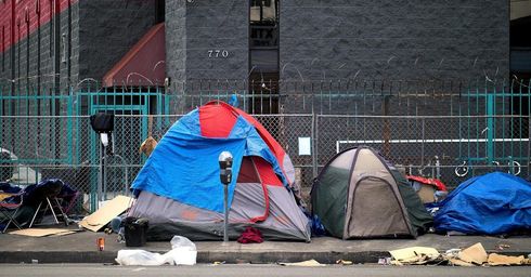
[[[77,212],[91,211],[101,172],[105,198],[129,194],[146,160],[142,142],[160,140],[182,115],[212,100],[262,122],[306,188],[335,154],[358,145],[450,187],[492,170],[530,176],[531,80],[196,80],[153,88],[92,80],[63,90],[0,82],[0,181],[59,177],[82,193]],[[103,159],[89,123],[101,111],[116,116]]]

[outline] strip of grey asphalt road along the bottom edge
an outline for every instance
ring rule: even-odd
[[[295,267],[280,265],[195,265],[195,266],[117,266],[102,264],[0,264],[0,276],[531,276],[530,266],[457,267],[457,266],[383,266],[327,265],[323,267]]]

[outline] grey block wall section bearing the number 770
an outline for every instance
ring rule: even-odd
[[[167,68],[173,81],[248,75],[248,3],[166,1]]]

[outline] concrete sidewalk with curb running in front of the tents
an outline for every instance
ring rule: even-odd
[[[105,238],[104,251],[99,251],[96,239]],[[331,237],[312,238],[312,242],[264,241],[242,245],[236,241],[222,246],[221,241],[195,241],[197,263],[275,263],[300,262],[315,259],[335,263],[342,259],[354,263],[376,263],[390,256],[388,251],[406,247],[432,247],[440,252],[467,248],[481,242],[487,252],[509,255],[531,253],[531,237],[440,236],[428,234],[417,239],[340,240]],[[27,237],[0,234],[0,263],[114,263],[118,250],[127,248],[117,242],[117,235],[79,232],[59,237]],[[169,241],[148,241],[139,248],[165,253],[171,250]]]

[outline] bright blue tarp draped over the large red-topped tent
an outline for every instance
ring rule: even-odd
[[[233,156],[233,179],[229,185],[232,202],[236,176],[244,156],[258,156],[273,166],[283,179],[274,155],[255,127],[238,116],[226,138],[200,135],[198,110],[176,122],[158,143],[131,188],[165,196],[194,207],[223,212],[223,185],[219,176],[218,157],[222,151]],[[285,180],[283,180],[285,184]]]

